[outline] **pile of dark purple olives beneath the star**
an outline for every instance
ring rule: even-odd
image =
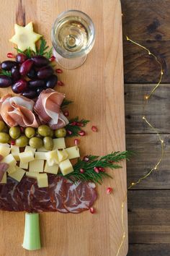
[[[14,93],[21,93],[27,98],[36,98],[44,89],[54,88],[58,77],[53,74],[49,59],[37,55],[27,59],[24,54],[17,54],[15,61],[1,62],[1,69],[10,71],[12,77],[1,74],[0,88],[12,86]]]

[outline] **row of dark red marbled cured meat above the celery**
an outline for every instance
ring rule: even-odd
[[[91,182],[73,184],[62,176],[48,174],[48,184],[39,188],[35,179],[24,176],[18,183],[8,176],[7,184],[0,184],[0,210],[81,213],[97,199]]]

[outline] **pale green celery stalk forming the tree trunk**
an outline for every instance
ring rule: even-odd
[[[24,222],[24,249],[40,249],[40,226],[38,213],[25,213]]]

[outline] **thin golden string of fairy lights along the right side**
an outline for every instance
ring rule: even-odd
[[[117,249],[117,255],[118,256],[120,254],[120,250],[122,248],[122,245],[124,243],[124,240],[125,240],[125,236],[126,236],[126,232],[125,232],[125,224],[124,224],[124,206],[125,206],[125,202],[127,201],[127,195],[128,195],[128,190],[131,189],[132,187],[134,187],[135,185],[139,184],[140,182],[143,181],[143,179],[146,179],[148,176],[150,176],[153,171],[156,171],[158,169],[158,166],[160,165],[163,157],[164,157],[164,140],[162,140],[161,138],[161,135],[159,134],[158,130],[153,127],[153,125],[151,124],[150,121],[148,121],[148,119],[146,118],[145,116],[145,113],[146,113],[146,105],[148,104],[149,102],[149,99],[151,98],[151,96],[153,95],[153,93],[156,91],[156,89],[159,87],[159,85],[161,84],[161,80],[162,80],[162,77],[164,75],[164,72],[163,72],[163,68],[162,68],[162,65],[161,65],[161,62],[158,60],[158,58],[151,53],[151,51],[149,51],[148,48],[146,48],[145,46],[142,46],[140,45],[139,43],[135,42],[134,40],[131,40],[130,38],[128,38],[128,36],[126,36],[126,40],[128,40],[129,42],[135,44],[136,46],[139,46],[140,48],[143,48],[143,50],[147,51],[148,55],[150,56],[153,56],[153,58],[156,60],[156,62],[158,63],[159,67],[160,67],[160,78],[159,78],[159,81],[158,83],[155,85],[155,87],[153,88],[153,90],[151,90],[150,93],[148,93],[148,95],[144,95],[144,104],[143,104],[143,116],[142,116],[142,119],[143,121],[146,122],[146,124],[148,125],[148,127],[150,127],[154,133],[156,133],[156,136],[158,137],[158,141],[160,142],[160,145],[161,145],[161,156],[158,158],[158,161],[156,161],[156,164],[153,165],[153,168],[151,168],[150,171],[148,171],[148,173],[142,177],[140,177],[140,179],[138,179],[136,182],[132,182],[130,184],[130,186],[128,187],[127,189],[127,192],[126,192],[126,195],[124,197],[124,199],[122,200],[122,204],[121,204],[121,223],[122,223],[122,240],[120,242],[120,246],[119,248]]]

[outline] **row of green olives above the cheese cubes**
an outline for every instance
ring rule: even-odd
[[[0,143],[14,142],[19,148],[30,145],[32,148],[45,147],[46,150],[53,150],[53,138],[66,137],[66,129],[50,129],[48,125],[42,124],[37,129],[27,127],[7,127],[4,121],[0,121]]]

